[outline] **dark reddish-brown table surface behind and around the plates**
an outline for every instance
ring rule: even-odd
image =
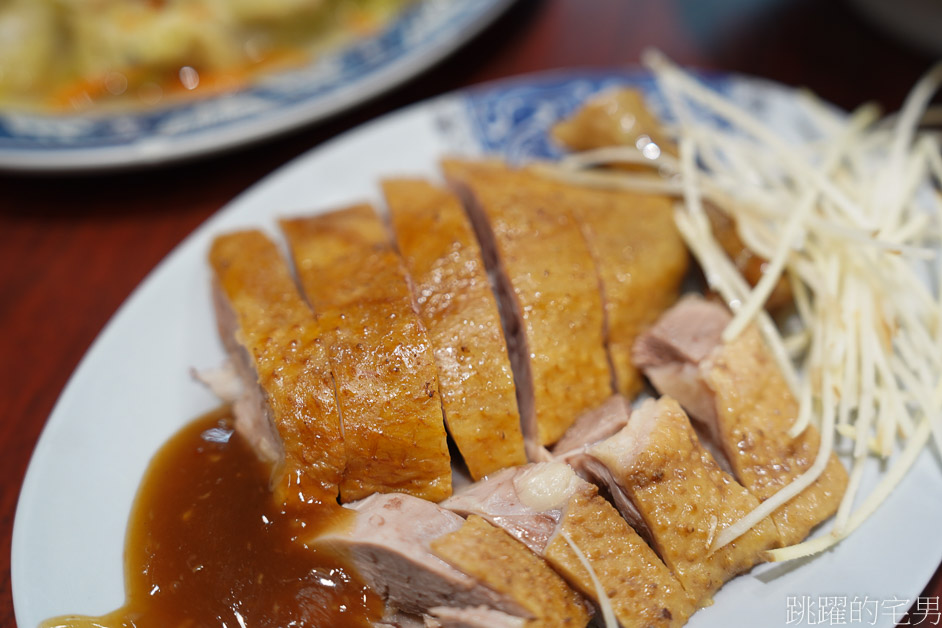
[[[0,626],[15,625],[13,517],[46,417],[109,317],[190,231],[293,157],[365,120],[504,76],[636,63],[649,46],[681,64],[806,86],[845,108],[872,100],[895,110],[932,62],[841,1],[520,0],[431,71],[317,126],[162,168],[0,173]],[[924,595],[940,593],[942,570]]]

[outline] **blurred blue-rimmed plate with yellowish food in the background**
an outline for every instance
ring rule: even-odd
[[[0,8],[0,167],[160,163],[415,76],[510,0],[31,2]]]

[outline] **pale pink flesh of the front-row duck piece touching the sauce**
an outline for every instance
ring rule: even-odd
[[[346,555],[389,606],[413,615],[437,606],[485,606],[530,618],[510,596],[432,553],[432,541],[464,525],[455,513],[404,493],[376,493],[347,508],[355,513],[352,524],[331,529],[315,543]]]

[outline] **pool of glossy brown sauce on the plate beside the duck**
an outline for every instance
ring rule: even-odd
[[[382,603],[341,557],[305,547],[274,503],[269,470],[222,411],[177,433],[151,461],[125,544],[125,605],[44,628],[368,626]],[[94,577],[88,574],[87,577]]]

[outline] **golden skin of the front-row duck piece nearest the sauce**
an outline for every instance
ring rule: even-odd
[[[532,616],[527,628],[576,628],[589,623],[585,600],[544,560],[509,534],[472,515],[460,530],[431,544],[432,553]]]

